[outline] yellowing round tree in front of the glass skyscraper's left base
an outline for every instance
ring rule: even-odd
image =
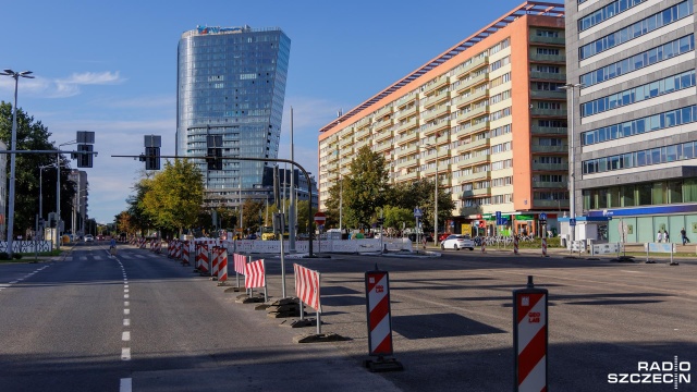
[[[187,159],[167,161],[164,169],[152,179],[143,205],[160,226],[184,228],[196,224],[204,200],[204,175]]]

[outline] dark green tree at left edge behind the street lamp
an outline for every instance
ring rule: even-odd
[[[12,105],[0,101],[0,140],[8,149],[12,147]],[[22,109],[17,109],[16,149],[17,150],[58,150],[49,142],[51,133],[35,121]],[[14,204],[14,233],[24,233],[34,228],[34,221],[39,205],[39,167],[54,164],[57,154],[17,154],[15,155],[15,204]],[[73,196],[75,183],[69,180],[70,161],[60,156],[61,169],[61,219],[70,222],[73,210]],[[7,164],[7,189],[9,191],[10,156]],[[57,170],[44,170],[42,186],[42,218],[48,218],[48,212],[56,211],[56,184]],[[17,197],[21,196],[21,197]]]

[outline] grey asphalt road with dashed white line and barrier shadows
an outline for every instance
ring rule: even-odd
[[[294,294],[293,259],[285,260]],[[617,264],[478,252],[441,258],[333,255],[299,262],[322,273],[322,332],[291,329],[234,302],[191,267],[121,246],[77,246],[54,262],[0,265],[0,391],[509,391],[512,291],[534,275],[549,290],[549,390],[669,391],[610,384],[638,362],[690,365],[697,390],[697,262]],[[280,259],[266,258],[281,296]],[[364,273],[390,272],[394,358],[370,373]],[[230,268],[231,282],[235,277]],[[311,310],[310,310],[311,311]],[[310,313],[310,316],[311,313]],[[661,372],[663,371],[652,371]]]

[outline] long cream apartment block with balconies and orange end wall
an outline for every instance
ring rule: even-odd
[[[356,151],[392,183],[433,181],[456,209],[445,230],[540,233],[568,208],[564,8],[526,1],[320,130],[320,209]],[[416,207],[416,206],[414,206]],[[545,218],[545,216],[542,216]],[[444,222],[440,222],[441,230]]]

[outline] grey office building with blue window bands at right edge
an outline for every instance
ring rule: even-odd
[[[566,0],[576,213],[599,237],[697,241],[693,0]],[[572,102],[570,90],[568,103]],[[578,237],[578,235],[577,235]]]

